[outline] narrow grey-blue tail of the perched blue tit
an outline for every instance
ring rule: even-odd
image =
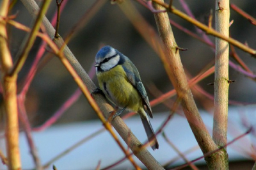
[[[143,127],[145,128],[146,134],[148,136],[148,142],[152,143],[151,148],[153,150],[158,149],[159,144],[157,142],[156,135],[155,135],[155,132],[152,128],[152,125],[151,125],[150,121],[148,120],[148,116],[147,115],[145,115],[145,116],[140,115],[140,118],[141,118],[141,121],[143,123]]]

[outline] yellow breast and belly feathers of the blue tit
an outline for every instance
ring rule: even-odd
[[[143,107],[138,91],[128,81],[121,65],[115,66],[107,72],[98,72],[97,78],[100,89],[118,107],[127,106],[127,109],[134,112]]]

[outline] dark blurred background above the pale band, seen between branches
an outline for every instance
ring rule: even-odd
[[[40,3],[41,1],[36,2]],[[157,32],[153,13],[137,1],[131,2]],[[94,3],[95,1],[67,1],[60,17],[60,36],[65,38],[72,27],[77,24],[79,19],[81,19],[84,13],[87,12]],[[166,1],[166,3],[169,3],[169,1]],[[214,13],[214,1],[194,0],[186,1],[186,3],[188,3],[189,8],[197,20],[204,24],[208,23],[211,10]],[[256,17],[256,1],[235,0],[230,1],[230,3],[236,4],[245,12]],[[173,6],[184,12],[179,1],[173,1]],[[56,1],[52,1],[47,12],[47,18],[49,20],[52,19],[56,9]],[[20,1],[17,1],[15,6],[13,6],[12,14],[15,13],[17,13],[17,17],[15,19],[17,22],[26,26],[31,26],[31,23],[33,23],[33,17],[31,17]],[[196,33],[195,26],[192,24],[189,24],[175,15],[169,14],[169,16],[170,19]],[[256,49],[255,26],[250,24],[248,20],[244,19],[241,15],[231,9],[230,20],[234,20],[234,23],[230,26],[230,35],[239,42],[247,43],[250,47]],[[214,22],[212,24],[212,27],[214,27]],[[12,26],[8,29],[12,56],[16,56],[26,33]],[[205,68],[210,68],[210,66],[213,65],[212,61],[214,61],[214,51],[211,47],[196,40],[195,38],[191,38],[191,36],[180,31],[180,29],[177,29],[176,27],[172,26],[172,29],[177,45],[188,49],[180,52],[180,56],[184,68],[191,77],[194,77],[200,71],[205,70]],[[214,37],[210,36],[210,38],[214,43]],[[35,59],[36,52],[41,43],[42,40],[37,38],[35,45],[33,45],[33,49],[29,53],[26,64],[19,74],[20,87],[24,84],[24,77],[26,77],[29,69],[31,68],[31,63]],[[148,91],[150,100],[155,98],[148,90],[148,86],[150,84],[154,84],[163,93],[173,89],[172,83],[168,79],[163,68],[163,64],[156,52],[154,52],[138,31],[136,31],[119,6],[109,3],[109,1],[106,1],[102,8],[100,8],[99,12],[92,17],[90,22],[72,36],[72,40],[68,43],[68,47],[86,72],[92,68],[95,54],[102,45],[111,45],[131,59],[140,72],[141,79]],[[255,72],[255,58],[252,58],[249,54],[246,54],[239,49],[236,49],[236,52],[243,59],[246,65]],[[15,60],[16,58],[13,59]],[[230,60],[234,61],[232,58],[230,58]],[[66,68],[62,65],[60,60],[56,58],[56,56],[51,56],[49,52],[45,52],[43,61],[44,62],[41,63],[41,67],[36,73],[35,79],[33,80],[26,97],[26,109],[29,121],[34,127],[41,125],[48,120],[77,89],[77,85],[70,76],[70,73],[67,72]],[[245,103],[256,103],[255,80],[248,79],[232,68],[230,68],[230,79],[236,80],[235,83],[230,84],[230,100]],[[207,86],[208,83],[213,81],[214,75],[211,75],[201,81],[199,85],[205,89],[205,91],[213,95],[213,86]],[[93,78],[93,82],[98,86],[98,82],[95,77]],[[201,100],[198,100],[195,95],[195,99],[199,109],[204,110],[204,104],[201,103],[202,98]],[[211,110],[213,106],[212,100],[205,98],[204,102],[208,105],[206,109]],[[153,107],[152,111],[154,114],[157,114],[158,112],[168,111],[168,108],[160,104]],[[91,109],[86,98],[81,95],[79,100],[77,100],[77,102],[72,105],[56,123],[74,123],[95,119],[97,119],[96,114]]]

